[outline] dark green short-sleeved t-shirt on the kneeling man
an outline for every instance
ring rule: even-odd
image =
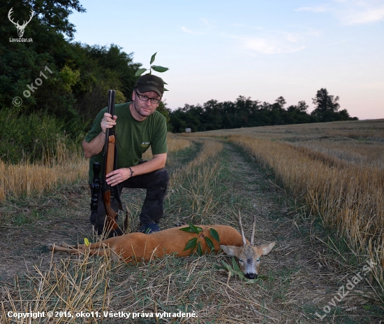
[[[167,124],[165,117],[158,111],[139,122],[133,118],[129,109],[129,104],[115,105],[116,120],[116,147],[117,147],[117,169],[124,167],[133,167],[142,159],[142,153],[151,146],[153,155],[168,152],[167,147]],[[107,107],[98,113],[92,125],[91,130],[85,136],[88,143],[101,132],[101,120]],[[92,183],[94,171],[92,164],[94,162],[103,163],[103,153],[91,157],[89,160],[89,183]]]

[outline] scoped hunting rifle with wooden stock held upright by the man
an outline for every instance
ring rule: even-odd
[[[108,90],[108,108],[107,112],[112,115],[115,113],[115,90]],[[111,203],[113,199],[117,199],[119,203],[119,209],[121,208],[121,202],[119,199],[119,189],[116,187],[115,190],[111,185],[108,185],[105,176],[116,169],[116,144],[115,144],[116,130],[115,126],[112,128],[105,129],[105,144],[104,144],[104,154],[103,154],[103,167],[101,168],[101,164],[98,162],[94,162],[94,183],[92,183],[92,199],[91,199],[91,212],[94,214],[96,218],[97,214],[97,201],[98,195],[101,193],[103,195],[103,203],[106,213],[105,219],[105,232],[110,233],[110,237],[116,237],[124,234],[121,231],[119,225],[117,225],[117,212],[112,209]],[[100,174],[100,169],[102,169],[102,179],[98,178],[98,174]],[[96,214],[95,214],[96,213]],[[96,221],[96,223],[98,223]],[[126,221],[124,222],[126,223]],[[98,224],[100,226],[100,224]],[[124,225],[124,227],[126,227]],[[98,234],[102,234],[102,230],[98,227]]]

